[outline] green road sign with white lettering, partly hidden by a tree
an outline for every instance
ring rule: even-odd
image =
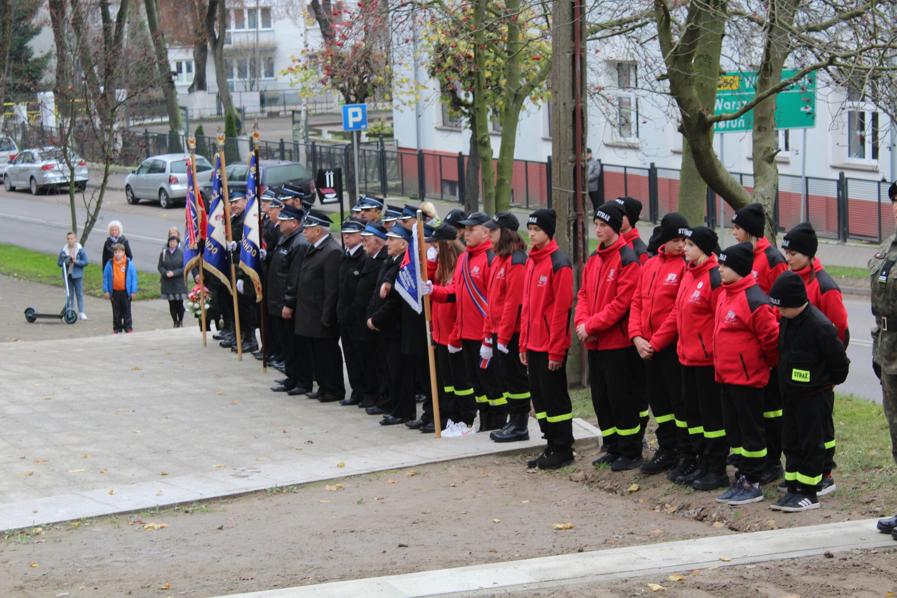
[[[797,74],[796,70],[782,71],[782,79]],[[717,83],[716,114],[735,112],[756,94],[756,71],[741,71],[721,75]],[[806,74],[796,83],[779,91],[776,96],[777,129],[809,129],[816,126],[816,74]],[[753,110],[734,120],[718,122],[717,133],[751,131]]]

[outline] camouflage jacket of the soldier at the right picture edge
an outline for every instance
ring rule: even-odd
[[[888,263],[891,264],[888,264]],[[885,265],[889,265],[885,270]],[[887,238],[869,260],[872,285],[872,359],[886,374],[897,374],[897,235]],[[884,280],[883,280],[884,279]],[[887,318],[883,326],[882,318]],[[892,319],[893,318],[893,319]]]

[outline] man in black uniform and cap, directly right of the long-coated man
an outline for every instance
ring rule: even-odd
[[[343,221],[340,232],[343,235],[345,251],[339,263],[339,299],[336,300],[336,316],[339,320],[340,340],[343,342],[345,371],[349,377],[352,392],[339,403],[341,405],[357,405],[361,403],[364,391],[364,368],[361,361],[365,359],[361,352],[358,338],[358,318],[355,314],[355,294],[361,280],[361,268],[368,260],[368,255],[361,247],[361,231],[368,221],[349,217]]]

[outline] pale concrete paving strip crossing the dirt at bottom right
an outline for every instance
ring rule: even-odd
[[[875,530],[875,519],[867,519],[230,594],[228,598],[486,596],[892,545],[889,534]]]

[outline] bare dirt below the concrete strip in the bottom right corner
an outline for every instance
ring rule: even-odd
[[[600,588],[587,585],[509,594],[514,598],[623,598],[657,595],[665,598],[872,598],[897,591],[897,542],[890,550],[787,559],[757,565],[680,571],[682,581],[669,575],[633,577]],[[662,586],[657,593],[649,584]]]

